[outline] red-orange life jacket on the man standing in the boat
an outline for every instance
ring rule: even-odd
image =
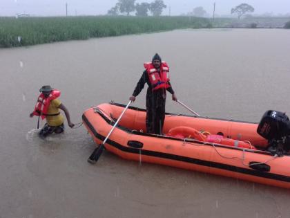
[[[144,68],[148,73],[148,78],[153,87],[153,90],[167,89],[170,87],[169,82],[169,67],[166,62],[161,62],[160,72],[155,69],[151,62],[144,63]]]

